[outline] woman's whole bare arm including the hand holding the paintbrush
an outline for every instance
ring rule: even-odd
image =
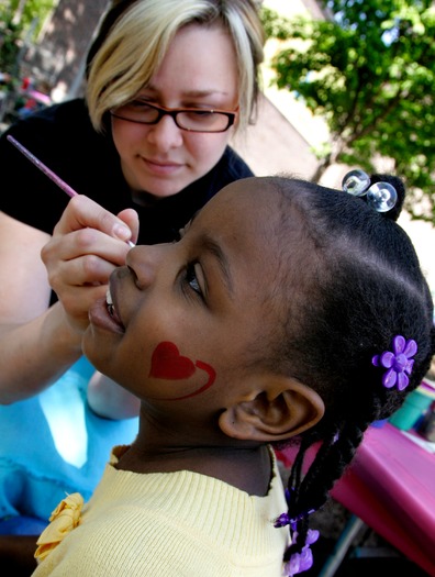
[[[116,218],[82,196],[53,237],[0,213],[1,403],[36,395],[81,355],[89,307],[125,262],[129,228],[136,238],[135,211]],[[51,286],[59,301],[48,308]]]

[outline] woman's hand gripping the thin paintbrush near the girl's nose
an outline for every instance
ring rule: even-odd
[[[137,234],[133,209],[115,217],[86,196],[69,201],[41,257],[75,331],[88,326],[90,306],[105,295],[110,274],[125,263],[127,241],[136,241]]]

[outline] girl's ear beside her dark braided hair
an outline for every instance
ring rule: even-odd
[[[267,375],[255,378],[250,392],[228,407],[219,424],[227,436],[271,443],[310,429],[324,412],[322,398],[311,387],[295,379]]]

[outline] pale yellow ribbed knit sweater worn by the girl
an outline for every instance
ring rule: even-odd
[[[288,529],[275,456],[266,497],[181,470],[142,475],[110,464],[79,525],[34,577],[280,577]]]

